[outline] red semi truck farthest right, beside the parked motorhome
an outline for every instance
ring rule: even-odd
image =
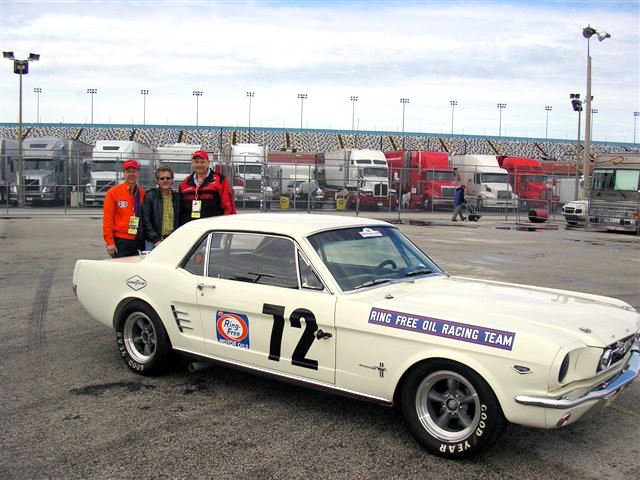
[[[549,176],[538,160],[504,155],[499,155],[497,159],[500,167],[509,172],[509,183],[524,210],[531,207],[552,208],[559,201]]]

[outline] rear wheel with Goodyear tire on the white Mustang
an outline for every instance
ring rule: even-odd
[[[139,375],[161,375],[173,364],[174,353],[162,321],[140,300],[122,310],[116,324],[116,343],[124,362]]]

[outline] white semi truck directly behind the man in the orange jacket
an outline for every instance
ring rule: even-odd
[[[104,196],[114,185],[123,180],[122,165],[136,160],[140,166],[138,184],[153,187],[151,149],[142,143],[122,140],[98,140],[91,156],[91,173],[85,188],[85,204],[101,205]]]

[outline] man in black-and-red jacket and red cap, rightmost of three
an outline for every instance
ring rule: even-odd
[[[233,190],[224,175],[209,167],[209,155],[196,150],[191,156],[193,174],[180,184],[182,198],[182,223],[197,218],[231,215],[236,213]]]

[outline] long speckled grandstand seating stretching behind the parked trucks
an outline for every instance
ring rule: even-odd
[[[17,139],[15,124],[0,126],[2,138]],[[182,142],[199,144],[208,151],[221,149],[228,143],[248,143],[248,128],[233,127],[158,127],[143,125],[60,125],[25,124],[24,138],[54,136],[94,144],[97,140],[134,140],[152,148]],[[252,128],[251,143],[265,145],[269,150],[298,152],[327,152],[339,148],[368,148],[374,150],[430,150],[449,154],[510,155],[556,162],[573,162],[576,144],[572,141],[537,140],[526,138],[497,138],[472,135],[404,135],[391,132],[352,132],[335,130],[286,130]],[[592,142],[592,156],[607,152],[637,152],[635,144]],[[583,146],[578,157],[582,160]]]

